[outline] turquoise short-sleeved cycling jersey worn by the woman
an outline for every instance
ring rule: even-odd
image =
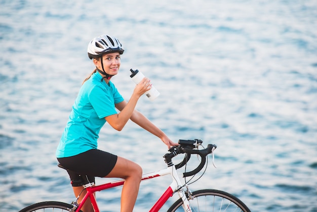
[[[106,122],[104,118],[116,114],[115,104],[123,100],[113,83],[107,84],[98,72],[94,73],[84,83],[72,106],[56,157],[97,149],[98,134]]]

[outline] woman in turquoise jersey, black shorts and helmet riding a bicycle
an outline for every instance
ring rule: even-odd
[[[87,175],[89,182],[95,182],[95,176],[122,178],[121,211],[132,211],[142,177],[142,168],[123,157],[97,149],[97,138],[101,127],[108,122],[111,127],[121,131],[129,119],[153,135],[161,138],[168,148],[178,144],[144,115],[135,110],[138,99],[151,88],[150,80],[144,78],[136,85],[127,102],[110,81],[118,73],[120,57],[124,49],[114,37],[103,35],[93,39],[88,45],[88,56],[96,66],[84,81],[72,106],[72,111],[60,143],[56,157],[62,166],[68,169],[72,188],[77,197],[83,190]],[[117,109],[120,111],[116,112]],[[81,197],[85,195],[85,190]],[[80,202],[80,198],[78,201]],[[83,211],[93,211],[90,201]]]

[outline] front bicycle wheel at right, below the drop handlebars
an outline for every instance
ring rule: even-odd
[[[245,203],[237,197],[219,190],[204,189],[192,192],[193,199],[189,200],[192,211],[243,211],[251,212]],[[182,199],[178,199],[168,212],[184,211]]]

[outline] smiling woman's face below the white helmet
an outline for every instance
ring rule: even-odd
[[[108,75],[116,75],[118,73],[121,64],[120,54],[118,52],[104,54],[101,59],[105,73]],[[98,69],[102,70],[100,60],[96,60],[95,65]]]

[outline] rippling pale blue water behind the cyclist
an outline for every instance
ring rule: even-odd
[[[129,100],[139,69],[161,95],[137,109],[175,142],[214,143],[191,189],[224,190],[252,211],[317,211],[317,3],[302,1],[0,1],[0,210],[74,200],[55,150],[83,80],[88,43],[124,45],[112,78]],[[105,124],[99,149],[165,168],[161,140]],[[153,170],[153,167],[155,168]],[[109,179],[97,179],[97,183]],[[141,184],[148,211],[169,177]],[[121,188],[97,194],[119,211]],[[165,206],[162,211],[166,211]]]

